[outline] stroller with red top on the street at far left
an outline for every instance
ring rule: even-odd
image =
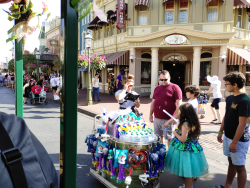
[[[30,103],[33,105],[36,103],[45,103],[47,105],[48,101],[46,100],[46,91],[48,91],[47,87],[34,85],[30,92]]]

